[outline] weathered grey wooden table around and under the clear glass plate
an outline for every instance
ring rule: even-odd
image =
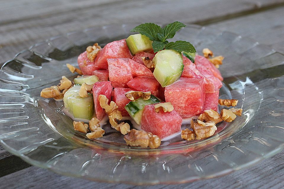
[[[1,0],[0,62],[55,35],[110,23],[214,25],[284,53],[284,0]],[[284,151],[248,169],[182,185],[95,183],[31,166],[0,146],[0,188],[283,188]]]

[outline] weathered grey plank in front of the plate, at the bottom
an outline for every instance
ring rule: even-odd
[[[229,175],[201,180],[180,185],[133,186],[125,184],[106,184],[88,180],[58,175],[38,167],[29,167],[0,178],[0,188],[118,188],[118,189],[144,189],[144,188],[283,188],[284,184],[284,151],[264,160],[262,163],[245,170],[239,170]]]

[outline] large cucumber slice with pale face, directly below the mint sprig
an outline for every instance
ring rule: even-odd
[[[153,63],[153,75],[162,87],[177,81],[183,73],[183,57],[178,51],[161,50],[153,58]]]

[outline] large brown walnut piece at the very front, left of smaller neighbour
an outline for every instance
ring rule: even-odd
[[[150,139],[147,132],[131,129],[128,135],[124,136],[124,140],[127,145],[147,148]]]

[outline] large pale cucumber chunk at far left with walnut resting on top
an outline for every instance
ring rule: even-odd
[[[82,98],[79,96],[81,85],[74,85],[64,94],[63,102],[68,112],[72,113],[74,118],[90,120],[94,113],[93,95]]]

